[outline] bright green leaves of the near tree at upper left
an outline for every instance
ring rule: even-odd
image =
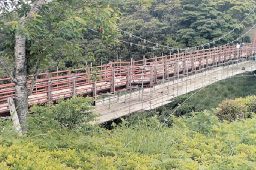
[[[107,42],[114,42],[114,37],[120,36],[115,30],[120,11],[104,1],[50,1],[43,5],[38,14],[32,14],[32,19],[26,20],[24,28],[20,27],[19,21],[29,12],[29,3],[34,1],[25,3],[19,0],[19,3],[22,6],[15,13],[8,13],[6,7],[0,14],[0,49],[1,56],[12,58],[14,35],[26,36],[29,74],[34,73],[36,65],[40,70],[48,69],[48,63],[56,55],[58,59],[60,57],[66,62],[71,61],[78,67],[83,67],[87,60],[93,60],[93,53],[82,42],[88,28],[99,30],[100,26],[102,31],[99,36]]]

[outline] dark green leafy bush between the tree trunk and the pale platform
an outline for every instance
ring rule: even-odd
[[[58,99],[58,105],[49,108],[49,105],[34,106],[31,111],[35,115],[40,115],[48,123],[42,121],[42,125],[54,127],[57,122],[59,127],[67,127],[76,130],[79,127],[87,125],[88,122],[96,119],[98,115],[92,113],[93,99],[89,97],[73,97],[71,99]],[[52,121],[54,120],[54,121]]]

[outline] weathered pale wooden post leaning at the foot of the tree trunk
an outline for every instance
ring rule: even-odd
[[[19,121],[19,117],[16,112],[16,107],[15,107],[12,97],[8,97],[7,102],[9,105],[9,109],[10,109],[10,113],[11,113],[11,117],[12,117],[12,123],[15,128],[15,131],[19,134],[19,136],[21,136],[22,132],[21,132],[21,127],[20,127],[20,121]]]

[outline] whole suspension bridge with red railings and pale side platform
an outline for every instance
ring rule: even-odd
[[[152,110],[177,96],[254,71],[255,51],[255,45],[249,43],[241,48],[224,45],[73,71],[46,71],[39,75],[29,104],[90,95],[95,100],[94,112],[101,115],[98,123],[102,123],[135,111]],[[10,81],[0,79],[1,115],[9,113],[7,97],[15,96],[15,84]]]

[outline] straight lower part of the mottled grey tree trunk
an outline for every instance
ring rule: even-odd
[[[22,126],[22,132],[28,130],[27,111],[28,111],[28,72],[26,63],[26,37],[15,36],[15,106]]]

